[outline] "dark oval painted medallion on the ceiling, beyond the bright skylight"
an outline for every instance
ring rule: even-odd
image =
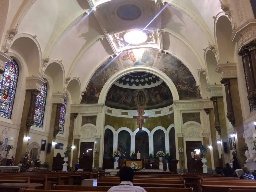
[[[121,5],[117,10],[116,14],[123,20],[134,20],[141,16],[141,9],[137,5],[126,4]]]

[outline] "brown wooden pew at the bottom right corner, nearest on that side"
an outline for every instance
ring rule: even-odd
[[[237,180],[232,181],[201,181],[199,180],[198,191],[199,192],[228,192],[228,189],[256,189],[256,182],[239,182]]]

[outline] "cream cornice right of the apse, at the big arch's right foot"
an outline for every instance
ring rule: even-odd
[[[179,100],[173,101],[175,109],[184,110],[184,109],[212,109],[213,103],[209,99],[200,99],[200,100]]]

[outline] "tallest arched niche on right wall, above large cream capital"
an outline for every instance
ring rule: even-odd
[[[224,13],[223,13],[224,14]],[[230,41],[233,30],[229,18],[221,15],[216,22],[216,39],[220,63],[234,63],[235,43]]]

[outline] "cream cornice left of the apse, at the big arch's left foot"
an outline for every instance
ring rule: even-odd
[[[71,113],[97,113],[102,112],[104,104],[72,104],[70,112]]]

